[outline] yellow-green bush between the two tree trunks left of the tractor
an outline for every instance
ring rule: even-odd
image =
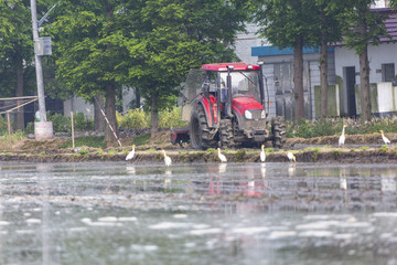
[[[126,129],[142,129],[150,126],[150,115],[142,109],[130,109],[126,115],[116,113],[117,124]]]

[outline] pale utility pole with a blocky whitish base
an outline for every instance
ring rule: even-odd
[[[37,53],[39,47],[39,24],[37,24],[37,8],[36,1],[31,0],[32,12],[32,30],[33,30],[33,43],[34,43],[34,60],[37,82],[37,97],[39,97],[39,116],[40,121],[34,123],[34,138],[35,140],[45,140],[53,138],[53,125],[51,121],[46,121],[45,114],[45,99],[44,99],[44,81],[43,81],[43,67],[41,62],[41,55]]]

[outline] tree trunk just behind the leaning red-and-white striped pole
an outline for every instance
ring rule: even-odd
[[[105,94],[105,113],[106,117],[108,118],[114,131],[118,136],[118,127],[116,120],[116,93],[115,86],[109,84],[106,86],[106,94]],[[105,129],[105,141],[106,142],[115,142],[116,137],[109,126],[106,126]]]

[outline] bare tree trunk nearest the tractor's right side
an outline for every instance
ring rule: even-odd
[[[293,89],[296,99],[296,121],[304,118],[303,104],[303,36],[299,35],[293,47]]]

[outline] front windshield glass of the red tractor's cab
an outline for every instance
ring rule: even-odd
[[[238,71],[232,72],[232,95],[233,97],[247,96],[260,102],[260,88],[258,72]],[[221,73],[221,87],[226,84],[227,72]]]

